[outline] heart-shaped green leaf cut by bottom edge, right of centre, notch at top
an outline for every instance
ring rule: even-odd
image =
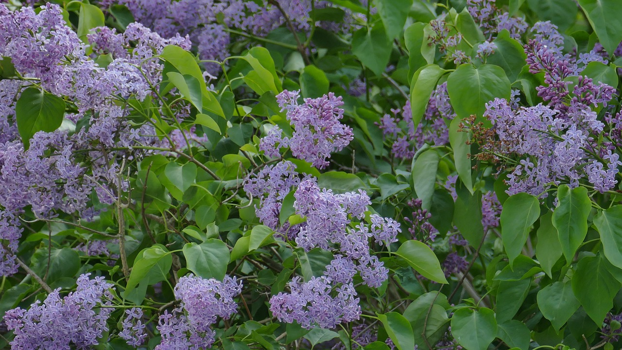
[[[494,312],[460,309],[452,316],[452,335],[466,350],[486,350],[497,334]]]

